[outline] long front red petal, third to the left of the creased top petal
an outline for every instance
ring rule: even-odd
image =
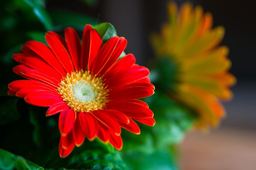
[[[53,54],[52,50],[45,44],[38,41],[27,41],[26,46],[40,55],[49,65],[55,68],[62,76],[66,76],[66,71]]]

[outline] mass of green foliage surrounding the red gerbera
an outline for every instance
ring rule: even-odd
[[[63,159],[58,155],[58,115],[46,118],[46,108],[31,106],[23,99],[5,95],[7,84],[19,79],[11,72],[11,68],[15,66],[11,55],[19,52],[26,40],[45,42],[44,32],[47,30],[59,31],[71,26],[82,31],[85,24],[92,24],[103,43],[116,36],[116,30],[110,23],[96,25],[95,19],[85,15],[68,11],[47,11],[44,0],[10,0],[4,1],[2,6],[0,34],[6,41],[0,47],[0,69],[6,74],[3,75],[0,87],[0,169],[177,169],[175,145],[191,127],[195,117],[191,110],[171,101],[165,94],[165,89],[174,84],[174,77],[170,75],[175,75],[176,70],[171,62],[158,61],[154,65],[152,80],[156,85],[156,93],[143,99],[155,113],[154,127],[139,123],[139,136],[123,130],[124,148],[121,152],[99,140],[85,141]],[[124,55],[125,53],[120,57]]]

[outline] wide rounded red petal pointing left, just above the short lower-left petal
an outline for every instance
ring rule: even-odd
[[[60,95],[48,91],[34,91],[27,94],[24,100],[32,105],[48,107],[55,103],[63,102],[63,99]]]

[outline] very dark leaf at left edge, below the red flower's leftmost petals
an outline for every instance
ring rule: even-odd
[[[0,125],[17,120],[20,117],[16,106],[18,99],[16,96],[0,96]]]

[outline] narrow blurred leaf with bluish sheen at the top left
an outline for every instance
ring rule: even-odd
[[[44,25],[46,30],[52,29],[52,20],[48,12],[45,10],[45,4],[43,0],[23,0],[26,2],[32,9],[37,18]]]

